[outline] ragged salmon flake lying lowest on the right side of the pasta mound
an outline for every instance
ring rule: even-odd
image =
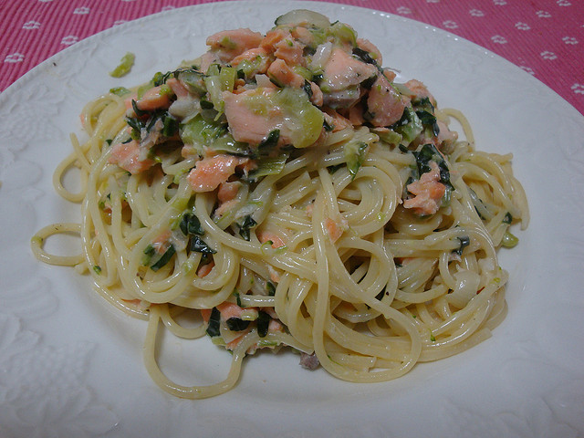
[[[440,183],[440,169],[436,162],[430,162],[430,172],[422,174],[418,181],[408,184],[408,192],[414,194],[403,202],[405,208],[412,208],[414,213],[434,214],[440,208],[440,200],[446,192],[446,186]]]

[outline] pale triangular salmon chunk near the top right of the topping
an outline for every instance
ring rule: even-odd
[[[345,50],[336,47],[328,58],[320,88],[324,92],[341,91],[357,86],[376,74],[377,68],[375,66],[366,64]]]

